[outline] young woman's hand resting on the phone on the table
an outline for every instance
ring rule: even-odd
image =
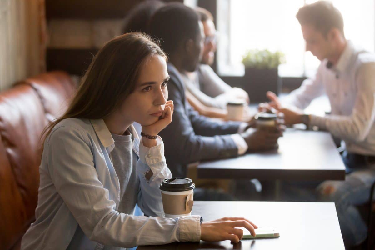
[[[239,228],[246,228],[252,236],[255,236],[254,229],[258,227],[243,217],[224,217],[219,220],[203,222],[201,225],[201,240],[230,240],[233,243],[238,243],[243,237],[243,231]]]

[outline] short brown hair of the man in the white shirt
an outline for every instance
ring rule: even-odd
[[[296,18],[301,25],[313,25],[324,37],[332,28],[337,28],[344,36],[344,20],[340,11],[328,1],[317,1],[298,10]]]

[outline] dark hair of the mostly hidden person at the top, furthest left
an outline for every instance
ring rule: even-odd
[[[130,9],[127,13],[122,27],[122,34],[128,32],[144,32],[148,33],[147,25],[151,16],[157,9],[164,6],[161,0],[146,0]]]

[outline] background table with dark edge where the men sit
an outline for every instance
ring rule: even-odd
[[[279,149],[201,162],[199,178],[345,180],[345,165],[328,132],[287,129]]]

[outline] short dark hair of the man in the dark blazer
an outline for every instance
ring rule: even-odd
[[[174,53],[188,39],[196,39],[200,33],[198,14],[182,3],[169,3],[151,17],[148,30],[154,39],[161,41],[162,49]]]

